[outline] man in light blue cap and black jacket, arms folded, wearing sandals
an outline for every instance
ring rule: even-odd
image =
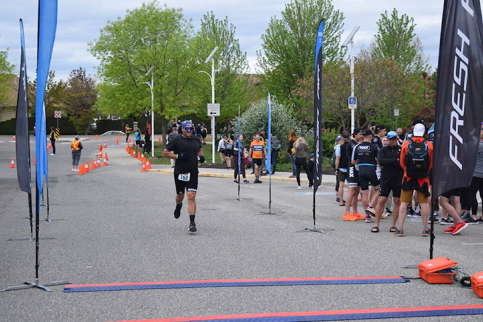
[[[376,222],[372,227],[372,232],[379,232],[379,221],[381,219],[382,212],[384,211],[384,204],[389,197],[389,193],[392,191],[392,198],[394,201],[394,211],[392,216],[392,224],[389,228],[390,232],[396,232],[396,221],[399,216],[399,206],[401,202],[399,197],[401,196],[401,183],[403,182],[404,171],[399,164],[399,158],[401,155],[401,146],[397,144],[398,136],[394,131],[387,133],[387,139],[389,145],[384,146],[379,150],[377,154],[377,162],[381,166],[381,188],[379,192],[379,199],[376,206]]]

